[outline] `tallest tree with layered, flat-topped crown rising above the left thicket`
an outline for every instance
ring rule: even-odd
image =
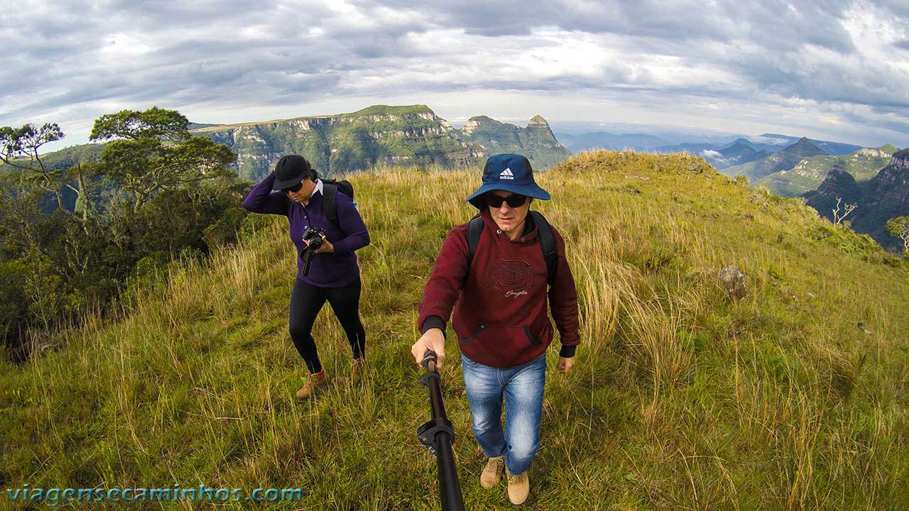
[[[157,106],[95,120],[92,141],[113,140],[101,153],[103,172],[128,196],[130,212],[159,193],[233,176],[230,148],[190,135],[188,126],[184,115]]]

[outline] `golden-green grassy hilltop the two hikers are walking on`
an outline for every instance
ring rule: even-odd
[[[254,215],[207,266],[141,279],[122,320],[0,366],[0,486],[302,487],[304,502],[270,507],[437,509],[409,348],[425,277],[448,229],[473,215],[464,196],[479,174],[353,181],[373,238],[358,253],[363,386],[295,401],[294,251],[285,220]],[[905,265],[689,155],[584,154],[538,181],[554,199],[534,208],[567,243],[582,344],[571,374],[547,375],[528,508],[905,507]],[[747,276],[743,300],[716,284],[728,265]],[[314,335],[329,376],[344,375],[349,346],[327,306]],[[478,485],[456,343],[446,349],[464,502],[507,508],[504,486]]]

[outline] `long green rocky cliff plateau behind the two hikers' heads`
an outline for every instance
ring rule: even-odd
[[[376,165],[469,167],[506,152],[527,155],[542,170],[571,155],[539,115],[525,128],[479,116],[455,130],[425,105],[375,105],[352,114],[206,126],[194,133],[230,146],[237,174],[253,180],[292,153],[305,155],[323,175]]]

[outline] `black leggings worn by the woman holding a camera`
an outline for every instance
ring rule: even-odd
[[[325,300],[341,322],[354,358],[363,358],[365,353],[366,332],[360,321],[360,279],[344,287],[317,287],[297,278],[290,296],[290,336],[310,373],[322,371],[311,332],[315,316],[322,310]]]

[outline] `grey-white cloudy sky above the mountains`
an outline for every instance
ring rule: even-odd
[[[909,146],[909,0],[257,4],[7,5],[0,125],[56,122],[73,145],[125,108],[233,123],[421,103],[454,125]]]

